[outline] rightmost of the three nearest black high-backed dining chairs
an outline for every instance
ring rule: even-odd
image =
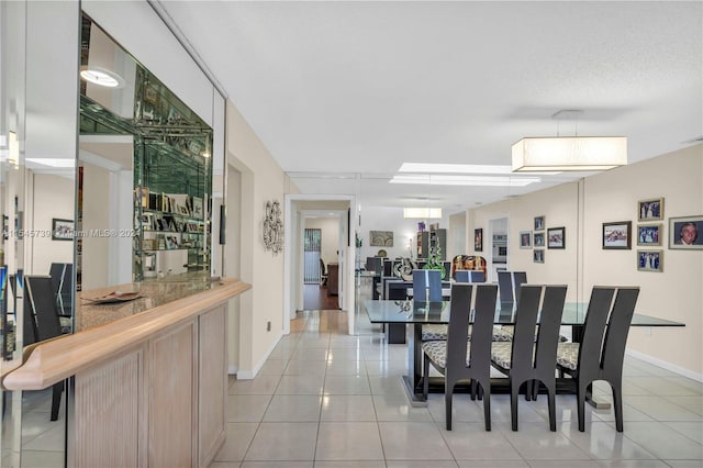
[[[638,287],[593,288],[581,343],[559,344],[557,369],[574,379],[580,432],[585,431],[585,399],[594,380],[610,383],[615,428],[623,432],[623,364],[638,296]]]

